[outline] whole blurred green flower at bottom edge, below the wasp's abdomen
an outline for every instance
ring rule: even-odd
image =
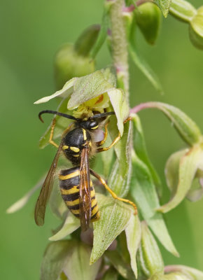
[[[43,257],[41,280],[57,280],[62,272],[69,280],[94,280],[101,261],[90,266],[90,251],[90,246],[78,240],[50,243]]]

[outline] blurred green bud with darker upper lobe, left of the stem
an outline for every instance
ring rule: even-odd
[[[81,77],[94,72],[94,60],[89,54],[97,40],[99,30],[99,25],[91,25],[83,31],[74,45],[66,43],[59,48],[55,55],[57,90],[73,77]]]

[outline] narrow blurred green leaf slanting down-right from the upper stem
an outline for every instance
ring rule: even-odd
[[[134,64],[139,68],[139,70],[142,73],[144,73],[144,75],[146,76],[146,78],[148,78],[153,87],[155,87],[155,90],[158,90],[160,94],[163,94],[162,85],[160,84],[158,76],[154,73],[154,71],[151,69],[151,66],[148,65],[144,58],[141,57],[136,46],[132,43],[129,44],[129,52]]]

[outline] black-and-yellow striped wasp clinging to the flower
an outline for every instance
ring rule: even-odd
[[[36,202],[34,213],[36,224],[43,225],[44,223],[45,207],[50,197],[54,181],[53,179],[57,168],[57,162],[61,153],[63,153],[66,159],[71,162],[73,167],[70,169],[62,169],[59,172],[60,192],[62,199],[66,203],[66,206],[69,208],[71,213],[77,218],[80,218],[80,225],[83,231],[87,230],[90,222],[94,222],[99,219],[99,209],[95,197],[94,187],[92,185],[92,180],[90,179],[90,174],[97,178],[100,183],[102,183],[106,190],[111,193],[113,198],[132,204],[135,211],[137,211],[137,207],[133,202],[118,197],[116,193],[113,193],[111,188],[107,186],[104,179],[102,179],[101,176],[90,169],[90,159],[94,153],[108,151],[120,140],[119,133],[118,137],[113,140],[109,147],[100,147],[106,141],[108,134],[108,123],[105,125],[104,139],[102,141],[94,141],[93,137],[97,132],[100,123],[102,123],[106,117],[114,115],[115,113],[95,113],[90,118],[75,118],[71,115],[67,115],[58,111],[45,110],[38,114],[38,118],[40,118],[42,122],[43,119],[41,118],[41,115],[44,113],[52,113],[57,116],[69,118],[74,120],[74,122],[63,132],[62,139],[58,146],[55,141],[52,140],[55,128],[55,118],[52,121],[49,143],[57,147],[57,153],[45,178],[41,188],[41,193],[38,196],[38,200]]]

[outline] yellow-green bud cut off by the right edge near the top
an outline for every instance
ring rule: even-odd
[[[191,20],[189,34],[193,45],[203,50],[203,6],[197,10],[197,15]]]

